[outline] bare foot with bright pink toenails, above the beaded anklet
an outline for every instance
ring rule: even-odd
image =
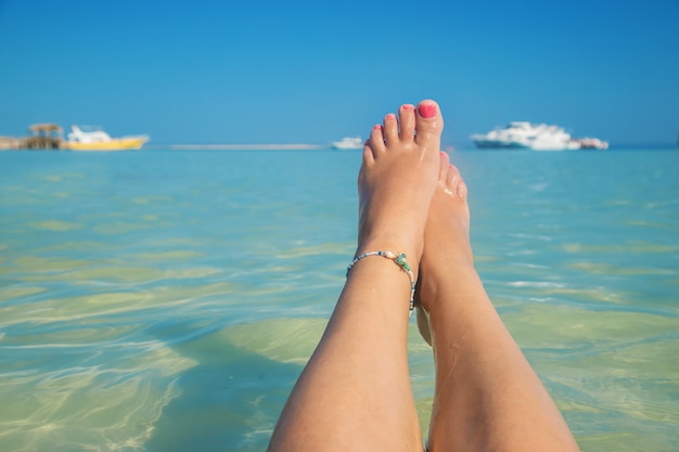
[[[402,105],[373,128],[358,175],[358,250],[406,253],[417,273],[437,185],[444,119],[434,101]]]

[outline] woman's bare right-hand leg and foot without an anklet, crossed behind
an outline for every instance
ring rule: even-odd
[[[431,315],[436,389],[428,449],[577,451],[474,269],[466,185],[441,158],[418,295]]]

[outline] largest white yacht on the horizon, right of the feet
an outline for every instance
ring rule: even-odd
[[[579,150],[580,143],[562,127],[527,121],[512,121],[488,133],[471,137],[477,147],[514,147],[534,151]]]

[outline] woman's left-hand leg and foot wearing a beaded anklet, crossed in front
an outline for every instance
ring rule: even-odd
[[[443,126],[438,105],[423,101],[373,129],[358,180],[357,256],[406,253],[417,273]],[[353,267],[270,451],[422,451],[408,372],[409,298],[410,280],[394,261],[371,256]]]

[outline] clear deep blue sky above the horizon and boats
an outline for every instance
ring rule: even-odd
[[[445,144],[529,120],[675,145],[679,0],[0,0],[0,135],[324,144],[424,98]]]

